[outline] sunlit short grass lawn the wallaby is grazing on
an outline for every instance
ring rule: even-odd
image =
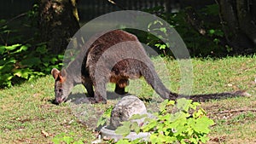
[[[156,58],[154,63],[160,78],[172,91],[178,92],[183,83],[186,83],[180,82],[177,60]],[[192,64],[192,94],[247,89],[252,95],[202,103],[201,107],[207,110],[209,117],[216,123],[209,135],[209,143],[255,143],[256,113],[249,110],[256,109],[256,56],[218,60],[193,59]],[[79,89],[81,86],[76,87],[73,93],[80,91]],[[108,84],[108,89],[112,91],[113,84]],[[132,80],[127,89],[139,97],[155,95],[154,90],[143,79]],[[97,106],[67,102],[55,106],[51,103],[53,99],[54,79],[51,76],[10,89],[1,89],[0,143],[53,143],[53,139],[63,135],[72,137],[74,141],[90,143],[96,139],[96,133],[90,129],[93,127],[90,124],[96,124],[97,112],[115,102],[109,100],[108,105]],[[232,112],[238,109],[243,111]]]

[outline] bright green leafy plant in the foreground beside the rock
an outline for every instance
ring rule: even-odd
[[[214,124],[207,118],[206,112],[197,108],[199,103],[191,100],[178,99],[164,101],[160,105],[160,112],[155,113],[155,118],[145,118],[144,125],[139,127],[136,122],[124,122],[115,132],[120,135],[128,135],[131,131],[149,132],[151,143],[206,143],[209,127]],[[175,112],[171,113],[170,108]],[[190,114],[192,112],[192,114]],[[135,116],[137,118],[141,118]],[[143,116],[145,117],[145,116]],[[120,142],[121,141],[121,142]],[[120,140],[118,143],[134,143],[135,141]],[[141,143],[142,140],[136,140]]]

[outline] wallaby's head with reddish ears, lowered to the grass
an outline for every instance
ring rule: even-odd
[[[55,104],[60,104],[67,100],[67,96],[70,94],[73,88],[73,82],[67,79],[67,72],[65,69],[61,71],[53,68],[51,75],[55,78]]]

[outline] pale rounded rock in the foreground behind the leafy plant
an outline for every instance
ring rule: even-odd
[[[140,99],[134,95],[123,97],[114,107],[111,112],[109,130],[116,130],[121,125],[121,122],[127,121],[134,114],[148,114],[147,109]],[[137,124],[143,124],[143,119],[134,120]]]

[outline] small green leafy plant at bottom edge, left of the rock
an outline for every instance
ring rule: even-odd
[[[61,144],[63,142],[66,144],[84,144],[82,140],[75,141],[73,137],[75,137],[74,133],[69,133],[68,135],[65,133],[61,133],[60,135],[56,135],[52,139],[52,142],[54,144]]]

